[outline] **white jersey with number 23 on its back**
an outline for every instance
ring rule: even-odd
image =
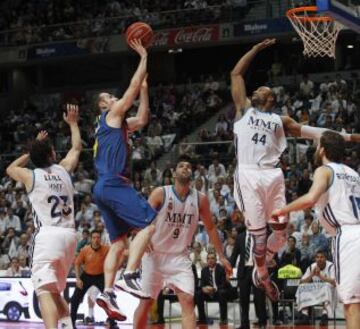
[[[59,165],[36,168],[29,192],[34,225],[75,227],[74,187],[69,173]]]

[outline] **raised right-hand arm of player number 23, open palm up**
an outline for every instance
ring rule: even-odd
[[[79,108],[77,105],[67,104],[67,113],[64,113],[64,121],[69,125],[71,131],[71,149],[66,157],[59,163],[66,171],[73,172],[79,162],[82,149],[79,121]]]

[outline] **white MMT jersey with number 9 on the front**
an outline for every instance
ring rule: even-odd
[[[181,254],[189,251],[199,222],[199,193],[195,189],[184,201],[177,196],[175,187],[163,187],[163,205],[155,219],[155,234],[151,239],[154,251]]]

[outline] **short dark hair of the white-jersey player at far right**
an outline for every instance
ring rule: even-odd
[[[329,130],[323,132],[320,138],[320,147],[324,148],[325,156],[329,161],[342,161],[345,151],[345,140],[340,134]]]

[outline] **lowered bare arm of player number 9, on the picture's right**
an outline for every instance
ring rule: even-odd
[[[199,193],[199,192],[198,192]],[[220,241],[216,226],[211,218],[209,199],[206,195],[200,194],[200,218],[204,222],[206,231],[208,232],[209,239],[214,245],[216,253],[219,255],[220,262],[224,265],[226,273],[229,277],[232,276],[232,267],[229,261],[226,259],[223,251],[223,245]]]

